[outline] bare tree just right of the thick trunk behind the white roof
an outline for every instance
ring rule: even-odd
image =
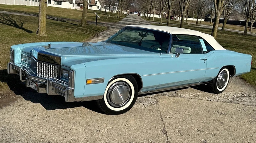
[[[227,20],[230,16],[232,16],[232,14],[237,10],[237,8],[235,8],[235,6],[237,5],[237,1],[236,0],[226,0],[225,1],[225,7],[223,9],[223,25],[222,25],[222,29],[225,29]]]

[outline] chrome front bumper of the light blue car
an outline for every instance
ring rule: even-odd
[[[18,66],[14,63],[8,63],[8,74],[17,74],[20,81],[26,82],[26,87],[31,87],[39,93],[47,93],[48,95],[61,95],[65,97],[66,102],[81,101],[74,96],[74,78],[75,71],[69,71],[69,82],[59,79],[45,79],[30,74],[29,68]],[[84,100],[83,100],[84,101]]]

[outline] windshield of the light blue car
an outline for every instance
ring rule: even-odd
[[[151,52],[166,53],[170,35],[160,31],[126,27],[106,42]]]

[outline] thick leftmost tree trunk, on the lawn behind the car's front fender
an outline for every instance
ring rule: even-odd
[[[36,32],[36,35],[39,36],[46,36],[46,6],[46,0],[40,0],[38,29]]]

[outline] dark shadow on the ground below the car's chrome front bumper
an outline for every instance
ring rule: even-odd
[[[26,101],[32,103],[40,103],[46,110],[68,109],[75,107],[85,107],[97,113],[102,113],[96,104],[96,101],[85,102],[65,102],[65,97],[58,95],[47,95],[46,93],[37,93],[30,87],[26,87],[25,83],[19,80],[16,74],[8,74],[7,70],[0,70],[0,81],[7,83],[8,87],[16,94],[20,95]],[[7,91],[8,92],[8,91]],[[4,96],[4,95],[2,95]],[[8,101],[0,101],[8,102]]]

